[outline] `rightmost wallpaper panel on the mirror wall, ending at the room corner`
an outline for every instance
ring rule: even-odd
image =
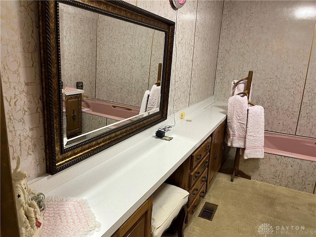
[[[213,95],[223,1],[198,1],[190,105]]]

